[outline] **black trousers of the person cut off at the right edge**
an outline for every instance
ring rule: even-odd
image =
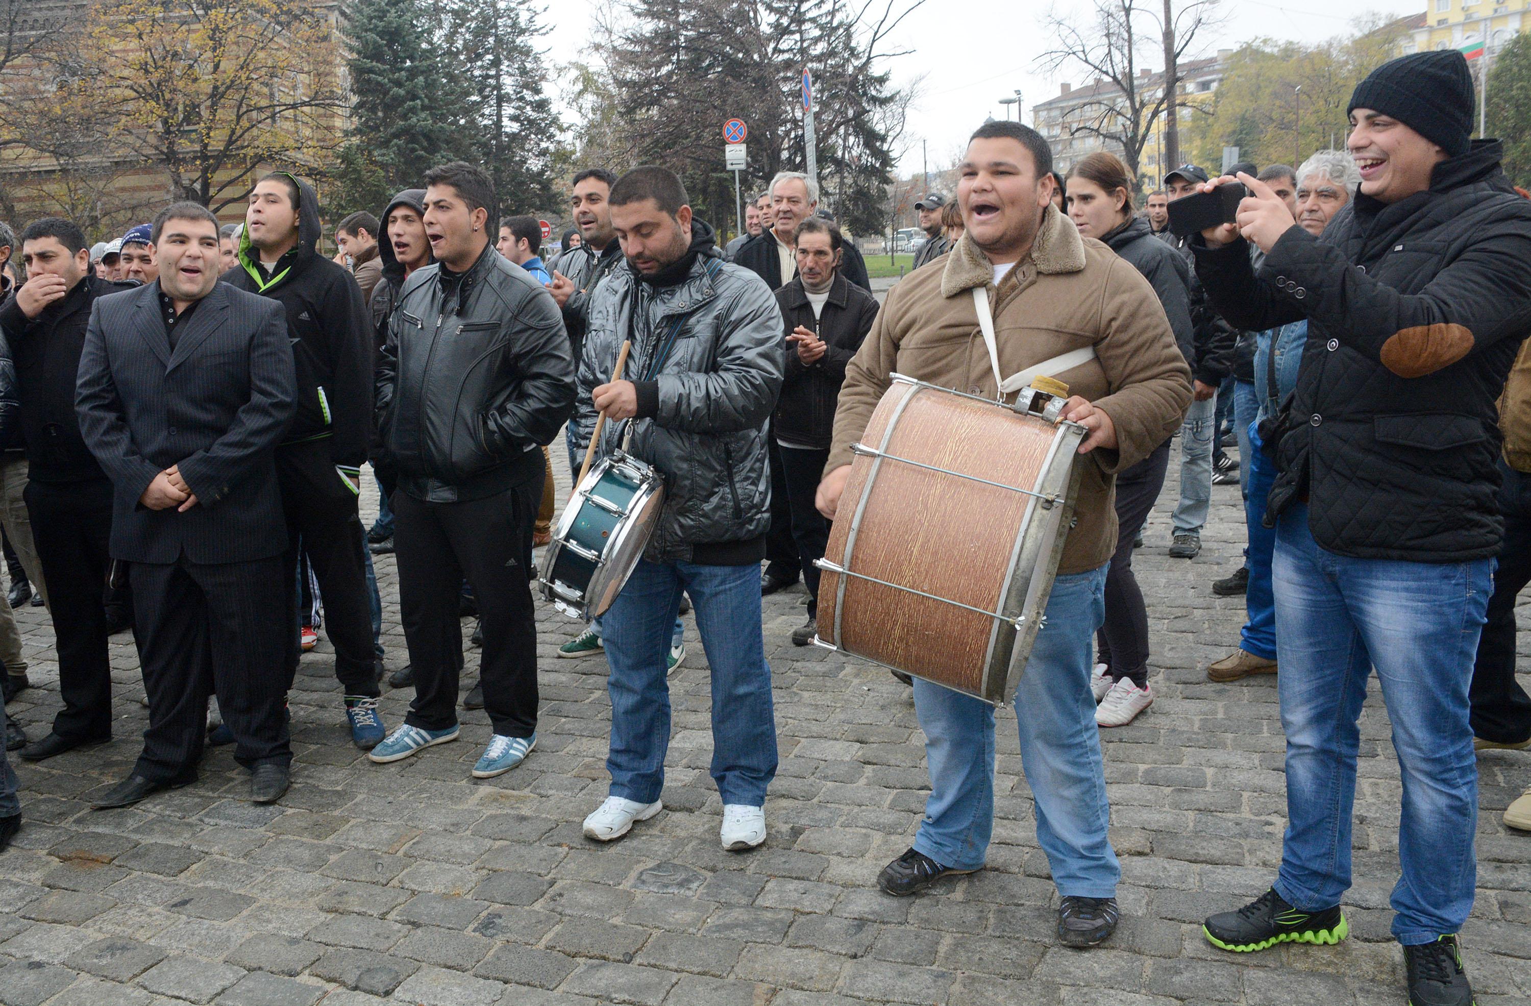
[[[1473,733],[1496,744],[1531,740],[1531,698],[1516,681],[1516,596],[1531,582],[1531,475],[1499,461],[1503,484],[1499,510],[1505,518],[1505,544],[1494,570],[1494,594],[1488,599],[1488,622],[1477,640],[1473,665]],[[46,576],[46,574],[44,574]],[[47,583],[52,593],[52,580]]]

